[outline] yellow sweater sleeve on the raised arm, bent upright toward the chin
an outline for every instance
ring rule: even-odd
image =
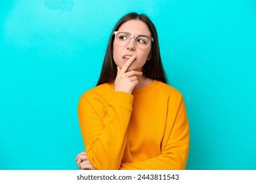
[[[85,152],[95,169],[119,169],[127,126],[132,112],[133,95],[114,92],[105,105],[98,96],[83,95],[79,100],[78,118]]]

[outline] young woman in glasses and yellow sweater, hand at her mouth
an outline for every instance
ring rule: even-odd
[[[78,105],[81,169],[184,169],[188,118],[166,84],[156,27],[144,14],[117,22],[95,88]]]

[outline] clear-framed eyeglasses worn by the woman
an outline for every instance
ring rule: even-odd
[[[154,42],[154,39],[152,37],[149,37],[147,35],[137,35],[137,36],[132,36],[131,33],[129,32],[123,32],[123,31],[114,31],[113,33],[115,35],[115,41],[117,44],[120,46],[126,46],[131,39],[135,39],[135,44],[137,48],[140,48],[142,50],[148,48],[148,45],[150,42]]]

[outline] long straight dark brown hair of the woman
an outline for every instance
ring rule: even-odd
[[[104,62],[102,65],[102,70],[100,73],[100,78],[98,79],[97,86],[104,83],[114,82],[116,79],[117,65],[113,59],[113,42],[114,42],[114,31],[117,31],[119,27],[129,20],[141,20],[150,29],[151,36],[154,38],[154,42],[151,44],[150,61],[146,61],[142,67],[142,73],[146,78],[151,78],[152,80],[160,80],[166,83],[165,72],[163,71],[163,65],[161,63],[160,48],[158,43],[158,33],[153,22],[144,14],[137,14],[136,12],[131,12],[126,14],[121,18],[116,26],[114,27],[110,39],[108,41],[108,47],[106,49],[106,54]]]

